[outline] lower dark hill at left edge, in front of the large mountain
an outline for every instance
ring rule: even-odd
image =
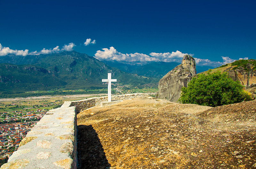
[[[64,85],[67,82],[38,66],[0,64],[0,92],[49,90]]]

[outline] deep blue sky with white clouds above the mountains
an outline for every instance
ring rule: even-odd
[[[0,55],[75,50],[100,60],[180,62],[192,54],[210,66],[256,59],[254,1],[0,0],[0,6]]]

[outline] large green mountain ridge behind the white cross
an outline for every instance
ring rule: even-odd
[[[47,55],[0,57],[0,91],[64,89],[97,89],[101,79],[112,73],[117,82],[140,86],[156,83],[148,78],[112,68],[98,59],[75,51]],[[12,64],[10,64],[12,63]],[[16,65],[13,65],[16,64]],[[29,65],[22,65],[29,64]]]

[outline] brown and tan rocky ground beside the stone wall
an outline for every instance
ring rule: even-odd
[[[78,168],[256,168],[256,101],[124,100],[77,115]]]

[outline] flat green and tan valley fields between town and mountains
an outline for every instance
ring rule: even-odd
[[[157,88],[153,88],[153,87],[145,87],[145,88],[139,89],[139,88],[130,88],[129,86],[128,87],[126,86],[118,90],[113,89],[111,93],[112,94],[152,93],[151,96],[154,97],[154,93],[156,91],[157,91]],[[0,101],[0,114],[2,115],[0,116],[0,118],[3,119],[6,117],[6,115],[9,115],[10,117],[22,116],[27,112],[31,112],[33,114],[39,114],[40,112],[36,112],[36,109],[41,109],[41,110],[45,109],[44,111],[49,111],[50,109],[60,107],[65,101],[75,101],[75,100],[82,100],[82,99],[87,99],[91,97],[106,96],[108,93],[107,89],[94,89],[89,91],[65,90],[62,92],[66,94],[56,95],[56,94],[60,94],[61,91],[33,91],[33,92],[25,92],[22,94],[33,94],[33,96],[41,96],[41,97],[18,98],[20,96],[19,94],[19,95],[14,95],[13,98],[16,98],[16,99],[3,99],[5,101]],[[47,96],[42,96],[43,94]],[[12,111],[17,111],[19,113],[22,113],[22,115],[11,113]],[[8,112],[11,114],[4,115],[3,112]],[[2,119],[0,119],[0,121],[3,121]]]

